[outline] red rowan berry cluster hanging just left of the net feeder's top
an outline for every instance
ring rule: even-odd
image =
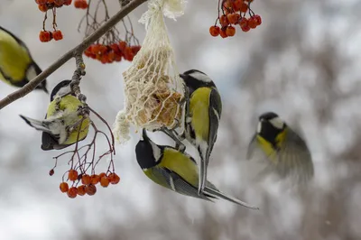
[[[141,46],[129,46],[125,41],[111,44],[95,43],[90,45],[88,49],[84,51],[84,55],[106,64],[114,61],[121,61],[122,59],[132,61],[140,49]]]

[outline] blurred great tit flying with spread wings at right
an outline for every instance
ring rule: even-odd
[[[314,174],[307,144],[273,112],[259,116],[257,131],[249,143],[246,158],[261,158],[258,160],[265,160],[267,171],[298,182],[306,182]]]

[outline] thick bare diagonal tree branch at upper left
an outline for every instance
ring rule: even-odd
[[[142,5],[147,0],[133,0],[129,4],[122,7],[122,9],[116,13],[112,18],[110,18],[104,25],[99,27],[97,31],[93,32],[88,36],[83,42],[81,42],[78,46],[73,48],[72,50],[65,53],[59,60],[55,61],[51,64],[48,69],[42,71],[37,77],[33,78],[29,81],[23,88],[14,91],[12,94],[9,94],[7,97],[0,101],[0,109],[3,109],[5,106],[13,103],[15,100],[25,97],[27,94],[32,92],[36,86],[38,86],[45,78],[49,77],[51,73],[55,70],[59,69],[64,63],[66,63],[71,58],[75,57],[75,55],[79,52],[85,51],[88,46],[90,46],[93,42],[96,42],[101,36],[103,36],[106,32],[108,32],[112,27],[116,25],[120,20],[122,20],[127,14],[130,14],[136,7]]]

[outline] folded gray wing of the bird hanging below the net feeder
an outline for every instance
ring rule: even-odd
[[[192,186],[188,181],[184,180],[178,173],[174,171],[162,167],[154,167],[150,174],[153,175],[153,179],[158,180],[158,184],[167,189],[171,189],[190,197],[202,198],[211,201],[208,196],[203,194],[199,196],[198,188]]]

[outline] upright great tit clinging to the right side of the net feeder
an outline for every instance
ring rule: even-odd
[[[222,101],[215,83],[204,72],[190,69],[180,74],[190,99],[186,103],[185,137],[200,157],[199,194],[205,189],[210,153],[217,140]]]

